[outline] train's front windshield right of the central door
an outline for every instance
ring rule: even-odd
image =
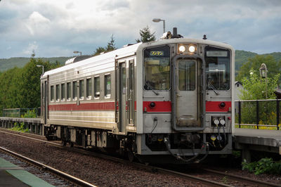
[[[207,46],[205,61],[207,89],[230,89],[230,51]]]

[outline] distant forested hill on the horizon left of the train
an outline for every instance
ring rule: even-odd
[[[58,61],[61,65],[65,64],[65,61],[72,57],[52,57],[52,58],[40,58],[50,63]],[[0,72],[4,72],[13,67],[23,67],[30,61],[30,58],[16,57],[16,58],[0,58]]]

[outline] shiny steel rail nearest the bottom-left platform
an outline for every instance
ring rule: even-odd
[[[66,179],[67,181],[71,181],[72,183],[76,184],[76,185],[79,185],[79,186],[94,186],[93,184],[91,183],[88,183],[86,181],[83,181],[81,179],[78,179],[77,177],[75,176],[72,176],[70,174],[66,174],[65,172],[61,172],[60,170],[58,169],[55,169],[53,167],[50,167],[48,165],[44,165],[42,164],[41,162],[37,162],[36,160],[32,160],[30,159],[29,157],[25,157],[23,155],[20,155],[18,153],[15,153],[11,150],[8,150],[6,148],[3,148],[3,147],[0,147],[0,150],[4,153],[8,153],[9,155],[12,155],[13,157],[18,157],[20,158],[20,160],[24,160],[25,162],[29,162],[31,163],[32,165],[35,165],[37,167],[40,167],[42,169],[45,169],[46,171],[48,172],[51,172],[52,174],[55,174],[57,176],[60,176],[62,177],[63,179]]]

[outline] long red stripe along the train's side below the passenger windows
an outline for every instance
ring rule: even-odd
[[[115,110],[115,102],[48,105],[48,110]]]

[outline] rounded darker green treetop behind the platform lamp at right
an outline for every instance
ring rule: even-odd
[[[281,60],[277,62],[273,56],[256,55],[254,58],[249,58],[247,63],[240,67],[237,81],[242,82],[242,79],[249,78],[249,70],[259,71],[262,63],[266,63],[268,69],[268,77],[273,78],[281,71]]]

